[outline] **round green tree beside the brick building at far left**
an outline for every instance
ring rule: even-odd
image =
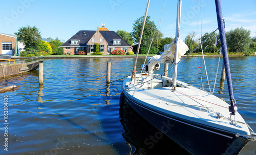
[[[41,39],[41,32],[35,26],[22,27],[18,29],[18,38],[24,42],[25,50],[38,50],[39,40]]]

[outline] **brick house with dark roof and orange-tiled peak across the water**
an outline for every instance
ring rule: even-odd
[[[97,31],[77,32],[68,41],[63,43],[60,48],[63,48],[65,54],[74,55],[79,51],[85,51],[87,55],[91,55],[95,52],[94,43],[99,44],[99,52],[102,52],[102,55],[109,55],[114,50],[129,52],[133,49],[115,31],[109,31],[104,26],[104,23],[100,28],[97,28]]]

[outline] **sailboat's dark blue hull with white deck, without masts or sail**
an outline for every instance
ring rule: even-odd
[[[181,87],[177,87],[174,92],[171,87],[166,86],[172,81],[167,77],[160,76],[150,83],[146,82],[146,76],[135,78],[137,81],[143,81],[134,84],[137,86],[127,85],[130,78],[124,80],[122,87],[127,103],[190,153],[238,154],[248,143],[246,135],[250,136],[250,131],[238,113],[236,119],[242,123],[235,126],[212,112],[216,111],[224,117],[229,117],[229,105],[216,96],[187,83],[181,84],[180,81],[177,83]],[[212,111],[204,111],[205,107]]]

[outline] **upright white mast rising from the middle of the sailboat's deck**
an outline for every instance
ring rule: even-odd
[[[177,9],[177,21],[176,21],[176,35],[175,35],[175,58],[174,58],[174,65],[178,62],[178,44],[179,44],[179,37],[180,37],[180,15],[181,15],[181,3],[182,0],[178,0],[178,9]],[[176,91],[177,86],[177,64],[174,66],[173,71],[173,87],[174,91]]]

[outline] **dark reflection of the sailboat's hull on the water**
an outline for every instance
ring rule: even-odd
[[[119,109],[122,136],[130,152],[127,154],[189,154],[173,140],[137,114],[126,101]],[[132,153],[133,152],[133,153]]]

